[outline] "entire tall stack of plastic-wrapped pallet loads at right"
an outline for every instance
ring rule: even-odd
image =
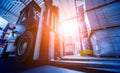
[[[120,56],[120,1],[85,0],[85,22],[95,56]]]

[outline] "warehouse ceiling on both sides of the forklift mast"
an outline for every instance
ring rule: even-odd
[[[40,4],[43,0],[35,1]],[[30,2],[31,0],[0,0],[0,16],[9,23],[15,24],[20,11]],[[76,17],[75,0],[53,0],[53,2],[59,6],[60,21],[66,21]]]

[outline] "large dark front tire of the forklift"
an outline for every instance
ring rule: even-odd
[[[19,63],[32,62],[34,51],[33,46],[33,34],[31,31],[26,31],[19,37],[16,45],[16,61]]]

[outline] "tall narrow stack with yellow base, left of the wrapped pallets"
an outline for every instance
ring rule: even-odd
[[[78,23],[79,23],[79,31],[80,31],[80,40],[81,40],[81,56],[93,55],[93,50],[91,47],[90,39],[88,38],[88,32],[86,28],[85,18],[84,18],[84,8],[83,5],[77,8],[78,12]]]

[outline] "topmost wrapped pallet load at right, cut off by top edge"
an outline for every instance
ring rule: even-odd
[[[85,10],[90,10],[116,0],[85,0]]]

